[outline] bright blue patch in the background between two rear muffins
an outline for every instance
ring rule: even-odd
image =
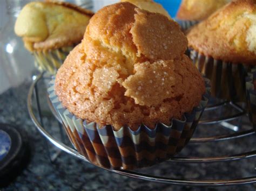
[[[162,4],[172,18],[176,17],[181,4],[181,0],[155,0],[155,2]]]

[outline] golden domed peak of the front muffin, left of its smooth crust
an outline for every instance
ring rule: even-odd
[[[84,49],[96,65],[105,62],[116,64],[127,57],[132,62],[138,62],[137,48],[132,42],[131,27],[134,23],[136,6],[130,3],[113,4],[106,6],[93,16],[90,20],[85,35]],[[111,52],[111,56],[108,56]],[[117,58],[119,55],[122,58]]]

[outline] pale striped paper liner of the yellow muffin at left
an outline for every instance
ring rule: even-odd
[[[75,46],[33,52],[36,67],[42,72],[55,74]]]

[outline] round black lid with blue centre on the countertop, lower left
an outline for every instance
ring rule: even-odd
[[[28,142],[20,129],[0,124],[0,186],[6,186],[29,161]]]

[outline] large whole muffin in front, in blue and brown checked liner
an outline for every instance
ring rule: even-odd
[[[99,10],[48,89],[77,150],[123,169],[179,152],[209,89],[186,47],[179,25],[159,13],[128,2]]]

